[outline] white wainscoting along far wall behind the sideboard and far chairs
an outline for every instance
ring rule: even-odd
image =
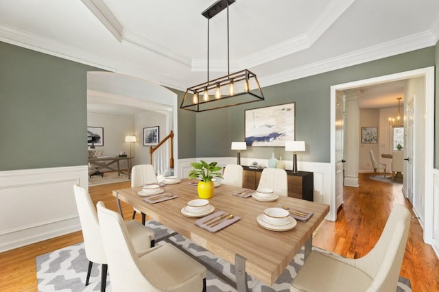
[[[228,164],[236,164],[236,157],[220,157],[220,158],[185,158],[178,160],[178,177],[187,178],[191,171],[191,162],[204,160],[206,162],[216,161],[218,166],[224,167]],[[261,165],[267,165],[267,159],[258,158],[241,158],[241,165],[251,165],[252,162],[258,162]],[[286,169],[292,169],[292,160],[283,160]],[[299,171],[310,171],[314,173],[314,202],[327,204],[330,206],[329,214],[324,218],[326,220],[337,220],[337,208],[342,204],[335,202],[335,198],[331,196],[331,164],[323,162],[297,162]]]

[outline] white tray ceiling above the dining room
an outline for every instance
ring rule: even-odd
[[[214,2],[0,0],[0,40],[185,90],[206,81]],[[226,23],[209,23],[210,79],[227,73]],[[229,24],[230,72],[268,86],[436,45],[439,1],[236,0]]]

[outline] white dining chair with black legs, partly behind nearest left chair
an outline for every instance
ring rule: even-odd
[[[84,237],[85,255],[88,259],[88,271],[85,285],[88,285],[90,280],[91,268],[93,263],[102,265],[101,271],[101,291],[105,291],[107,278],[107,259],[104,253],[104,245],[102,243],[102,236],[99,230],[99,221],[97,220],[97,212],[88,192],[75,184],[73,186],[75,193],[76,207],[78,208],[78,215],[80,217],[82,236]],[[128,236],[132,241],[134,250],[143,253],[154,246],[154,232],[141,223],[130,220],[124,223]]]

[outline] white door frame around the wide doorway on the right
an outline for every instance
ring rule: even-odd
[[[337,180],[337,164],[342,163],[343,157],[337,158],[336,152],[340,151],[336,145],[343,145],[337,142],[336,130],[337,125],[336,108],[337,92],[350,90],[361,86],[373,84],[384,84],[385,82],[394,82],[398,80],[409,80],[411,78],[424,77],[424,94],[408,95],[413,97],[415,103],[414,114],[414,212],[419,217],[424,228],[424,241],[431,243],[432,226],[433,226],[433,161],[434,161],[434,67],[405,71],[381,77],[374,77],[367,80],[348,82],[346,84],[337,84],[331,86],[331,211],[330,216],[336,218],[336,201],[337,192],[342,192],[343,180]],[[418,131],[416,131],[418,129]],[[422,132],[422,135],[417,135]],[[417,133],[417,134],[416,134]],[[418,137],[416,138],[416,137]],[[343,146],[342,146],[343,147]],[[337,160],[337,159],[340,159]]]

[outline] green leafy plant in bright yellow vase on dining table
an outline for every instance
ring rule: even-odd
[[[220,170],[222,167],[217,167],[217,162],[207,162],[200,160],[198,162],[192,162],[191,166],[193,169],[189,171],[189,178],[200,178],[198,182],[198,196],[202,199],[209,199],[213,197],[213,191],[215,190],[215,185],[213,184],[213,178],[222,178]]]

